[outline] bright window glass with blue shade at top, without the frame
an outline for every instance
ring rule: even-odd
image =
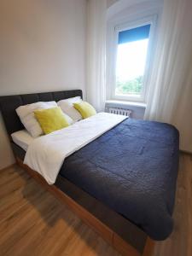
[[[150,24],[118,32],[115,97],[143,100],[149,32]]]

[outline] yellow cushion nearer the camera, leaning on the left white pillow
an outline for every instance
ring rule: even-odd
[[[61,108],[58,107],[35,110],[34,114],[45,134],[60,130],[69,125]]]

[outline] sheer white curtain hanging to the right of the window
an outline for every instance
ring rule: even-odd
[[[145,119],[176,125],[192,152],[192,0],[165,0]]]

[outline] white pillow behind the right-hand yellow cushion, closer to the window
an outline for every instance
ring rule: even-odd
[[[61,108],[63,113],[67,113],[67,115],[69,115],[74,122],[77,122],[82,119],[82,116],[79,111],[73,107],[73,103],[79,102],[82,102],[82,100],[80,96],[77,96],[66,100],[61,100],[57,102],[57,105]]]

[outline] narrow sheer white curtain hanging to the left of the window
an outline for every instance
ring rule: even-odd
[[[105,106],[106,0],[88,0],[87,101],[97,111]]]

